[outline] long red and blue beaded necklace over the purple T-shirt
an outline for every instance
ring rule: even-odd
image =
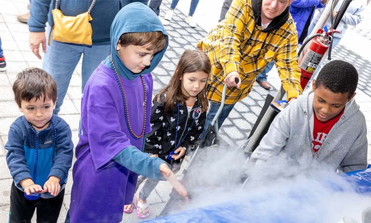
[[[132,137],[134,139],[140,139],[141,137],[143,137],[144,135],[144,132],[145,132],[145,121],[146,121],[146,101],[147,101],[147,88],[145,86],[145,81],[144,81],[144,78],[143,78],[143,75],[140,75],[140,78],[141,78],[141,82],[143,84],[143,92],[144,92],[144,102],[143,102],[143,114],[144,114],[144,118],[143,118],[143,130],[141,132],[141,134],[138,136],[137,134],[134,133],[133,129],[132,129],[132,125],[130,124],[130,119],[129,119],[129,110],[128,110],[128,102],[126,100],[126,94],[125,94],[125,91],[124,91],[124,88],[122,86],[122,83],[121,83],[121,80],[119,78],[119,75],[117,73],[117,70],[116,70],[116,67],[115,67],[115,64],[113,64],[113,61],[112,61],[112,56],[109,56],[109,63],[111,65],[111,69],[113,70],[113,72],[115,73],[115,77],[116,77],[116,81],[117,81],[117,84],[119,85],[119,88],[120,88],[120,91],[121,91],[121,96],[122,96],[122,102],[123,102],[123,105],[124,105],[124,110],[125,110],[125,122],[126,122],[126,126],[128,127],[129,129],[129,132],[130,134],[132,135]]]

